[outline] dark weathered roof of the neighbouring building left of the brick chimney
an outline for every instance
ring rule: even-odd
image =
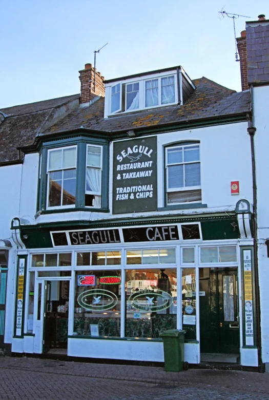
[[[79,94],[73,94],[37,103],[2,108],[0,111],[6,118],[2,122],[0,119],[0,163],[17,162],[19,159],[17,147],[32,143],[46,122],[58,120],[54,116],[55,109],[64,106],[66,113],[70,108],[70,103],[78,98]]]

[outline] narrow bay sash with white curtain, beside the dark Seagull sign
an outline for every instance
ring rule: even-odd
[[[102,147],[87,145],[85,205],[101,207]]]

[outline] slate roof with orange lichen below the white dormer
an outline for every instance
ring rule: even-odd
[[[184,105],[121,113],[104,119],[104,98],[89,107],[80,107],[44,132],[52,134],[81,127],[116,132],[165,124],[180,124],[202,118],[213,118],[250,111],[250,93],[235,92],[207,78],[194,80],[196,90]]]

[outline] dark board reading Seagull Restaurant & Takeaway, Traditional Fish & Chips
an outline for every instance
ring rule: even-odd
[[[156,209],[157,137],[115,142],[113,214]]]

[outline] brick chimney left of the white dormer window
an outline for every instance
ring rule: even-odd
[[[96,69],[95,69],[96,71]],[[96,96],[105,97],[105,78],[101,77],[100,72],[95,72],[95,91],[94,91],[94,68],[92,64],[85,64],[85,69],[79,72],[80,80],[80,104],[89,103]]]

